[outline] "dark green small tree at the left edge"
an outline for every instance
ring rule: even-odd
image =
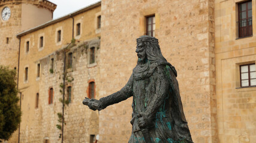
[[[8,140],[19,127],[21,111],[17,104],[16,71],[0,66],[0,142]]]

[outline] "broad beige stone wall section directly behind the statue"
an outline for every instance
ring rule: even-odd
[[[218,142],[215,105],[213,1],[102,1],[100,96],[120,90],[135,67],[136,38],[155,14],[155,37],[177,69],[185,116],[194,142]],[[100,111],[100,142],[127,142],[131,101]],[[122,127],[122,128],[121,128]]]

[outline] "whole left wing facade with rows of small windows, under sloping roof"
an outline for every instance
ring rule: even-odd
[[[70,100],[64,108],[64,142],[89,142],[98,134],[98,112],[85,108],[82,100],[91,92],[90,82],[94,82],[94,97],[98,98],[100,14],[98,2],[17,34],[22,122],[19,139],[15,133],[8,142],[60,142],[62,130],[56,125],[62,125],[58,113],[62,113],[59,100],[64,91],[65,99]]]

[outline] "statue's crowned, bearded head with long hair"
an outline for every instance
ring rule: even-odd
[[[161,49],[158,45],[158,39],[143,35],[137,39],[136,51],[138,56],[138,63],[145,63],[146,61],[157,62],[166,61],[162,56]]]

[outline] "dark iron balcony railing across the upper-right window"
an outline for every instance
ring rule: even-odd
[[[252,17],[237,21],[239,25],[239,38],[252,35]]]

